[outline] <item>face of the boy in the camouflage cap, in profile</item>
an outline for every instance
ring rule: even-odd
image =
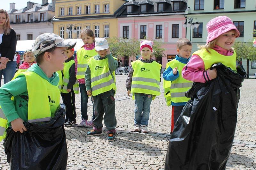
[[[51,63],[54,65],[54,72],[63,70],[64,63],[68,59],[66,50],[66,47],[58,47],[53,52],[51,52]]]

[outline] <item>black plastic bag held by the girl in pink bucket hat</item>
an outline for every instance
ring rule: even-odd
[[[221,63],[214,64],[217,78],[194,82],[174,125],[167,150],[165,169],[225,170],[232,147],[236,114],[246,73],[237,73]]]

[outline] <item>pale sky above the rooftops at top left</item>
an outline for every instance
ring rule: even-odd
[[[10,10],[10,3],[15,3],[15,8],[17,10],[26,7],[27,6],[27,2],[35,2],[37,4],[41,4],[42,0],[1,0],[1,5],[0,8],[9,11]],[[52,3],[52,0],[48,0],[48,3]]]

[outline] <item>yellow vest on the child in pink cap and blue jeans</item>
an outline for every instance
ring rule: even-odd
[[[140,60],[132,62],[131,92],[160,95],[160,70],[162,65],[157,62],[143,63]],[[134,95],[133,95],[134,96]]]

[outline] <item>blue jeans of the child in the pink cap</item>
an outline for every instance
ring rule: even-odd
[[[135,93],[134,95],[135,95],[134,125],[148,126],[152,95],[150,98],[148,98],[147,94]]]

